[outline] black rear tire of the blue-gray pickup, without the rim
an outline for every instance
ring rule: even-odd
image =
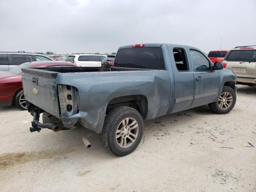
[[[138,134],[134,143],[127,148],[121,148],[116,141],[116,130],[121,122],[126,118],[136,120],[138,124]],[[132,130],[132,129],[131,129]],[[125,156],[133,152],[138,145],[143,135],[143,118],[140,113],[134,108],[127,106],[119,106],[110,112],[105,117],[104,126],[100,134],[100,139],[103,146],[111,153],[117,156]],[[127,138],[126,138],[127,139]],[[129,141],[129,140],[128,140]]]

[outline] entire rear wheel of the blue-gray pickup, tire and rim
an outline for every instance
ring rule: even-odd
[[[103,146],[117,156],[133,152],[143,135],[143,119],[140,113],[130,107],[120,106],[105,117],[100,139]]]

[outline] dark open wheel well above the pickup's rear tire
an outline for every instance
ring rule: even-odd
[[[144,95],[129,95],[114,98],[108,102],[106,113],[118,106],[134,108],[144,119],[146,119],[148,114],[148,100]]]

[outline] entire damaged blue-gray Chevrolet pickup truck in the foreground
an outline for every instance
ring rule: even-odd
[[[118,49],[114,67],[24,68],[30,131],[83,126],[101,134],[107,150],[136,149],[143,120],[208,104],[218,114],[236,103],[236,75],[199,49],[135,44]],[[43,113],[43,123],[39,115]]]

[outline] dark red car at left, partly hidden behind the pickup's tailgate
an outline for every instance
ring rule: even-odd
[[[27,109],[22,90],[21,68],[39,67],[77,67],[75,64],[63,61],[35,61],[23,63],[9,71],[0,72],[0,106],[15,104],[21,110]]]

